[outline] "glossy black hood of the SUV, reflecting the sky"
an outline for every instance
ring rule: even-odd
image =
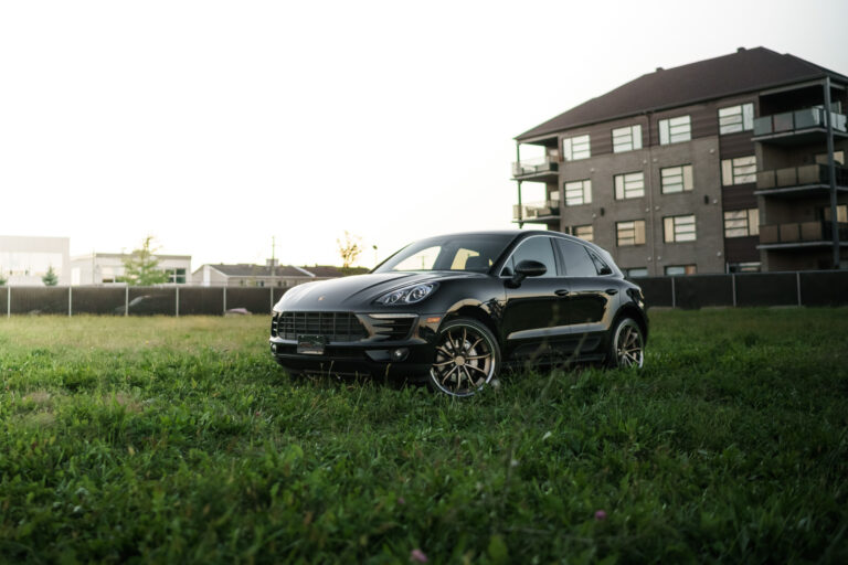
[[[441,282],[457,278],[478,278],[479,273],[374,273],[298,285],[283,295],[275,310],[350,310],[369,307],[396,288]],[[380,308],[378,306],[378,308]]]

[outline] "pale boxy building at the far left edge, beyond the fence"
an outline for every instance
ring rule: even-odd
[[[9,286],[44,286],[51,267],[60,285],[71,282],[71,238],[0,235],[0,276]]]

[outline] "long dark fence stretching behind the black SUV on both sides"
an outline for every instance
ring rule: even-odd
[[[745,273],[636,278],[648,307],[846,306],[848,271]],[[284,288],[0,287],[0,316],[269,315]]]

